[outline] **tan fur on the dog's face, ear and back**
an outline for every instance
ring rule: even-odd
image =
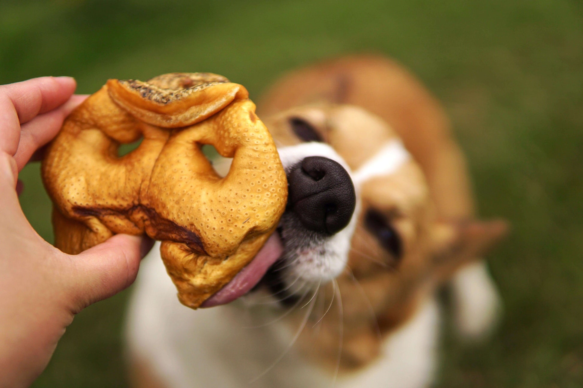
[[[268,91],[258,114],[278,146],[300,142],[289,119],[304,119],[353,170],[399,137],[413,156],[394,174],[360,188],[361,217],[374,208],[391,220],[403,241],[401,261],[382,249],[359,220],[348,268],[336,279],[342,313],[333,292],[325,293],[323,304],[332,305],[326,319],[314,327],[308,323],[298,340],[306,357],[324,368],[358,371],[377,358],[384,338],[436,287],[504,234],[504,223],[472,221],[466,165],[448,119],[395,62],[349,57],[291,73]],[[289,322],[297,326],[302,318],[301,312],[291,313]]]

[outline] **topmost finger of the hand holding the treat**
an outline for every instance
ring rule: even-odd
[[[0,86],[0,150],[14,155],[20,124],[64,104],[75,87],[71,77],[40,77]]]

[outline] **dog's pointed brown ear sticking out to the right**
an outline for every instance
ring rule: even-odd
[[[504,220],[448,221],[434,225],[433,273],[437,281],[447,281],[459,267],[482,255],[508,234]]]

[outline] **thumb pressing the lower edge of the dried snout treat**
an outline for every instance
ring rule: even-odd
[[[79,311],[134,283],[140,260],[152,245],[147,237],[117,234],[72,258],[76,267],[73,290]]]

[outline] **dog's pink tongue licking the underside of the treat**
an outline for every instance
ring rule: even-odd
[[[283,246],[277,233],[273,233],[267,240],[263,248],[251,263],[242,269],[237,276],[227,283],[223,288],[206,299],[201,307],[212,307],[217,305],[224,305],[232,302],[241,295],[247,294],[255,284],[265,275],[268,268],[275,263],[279,256],[282,255]]]

